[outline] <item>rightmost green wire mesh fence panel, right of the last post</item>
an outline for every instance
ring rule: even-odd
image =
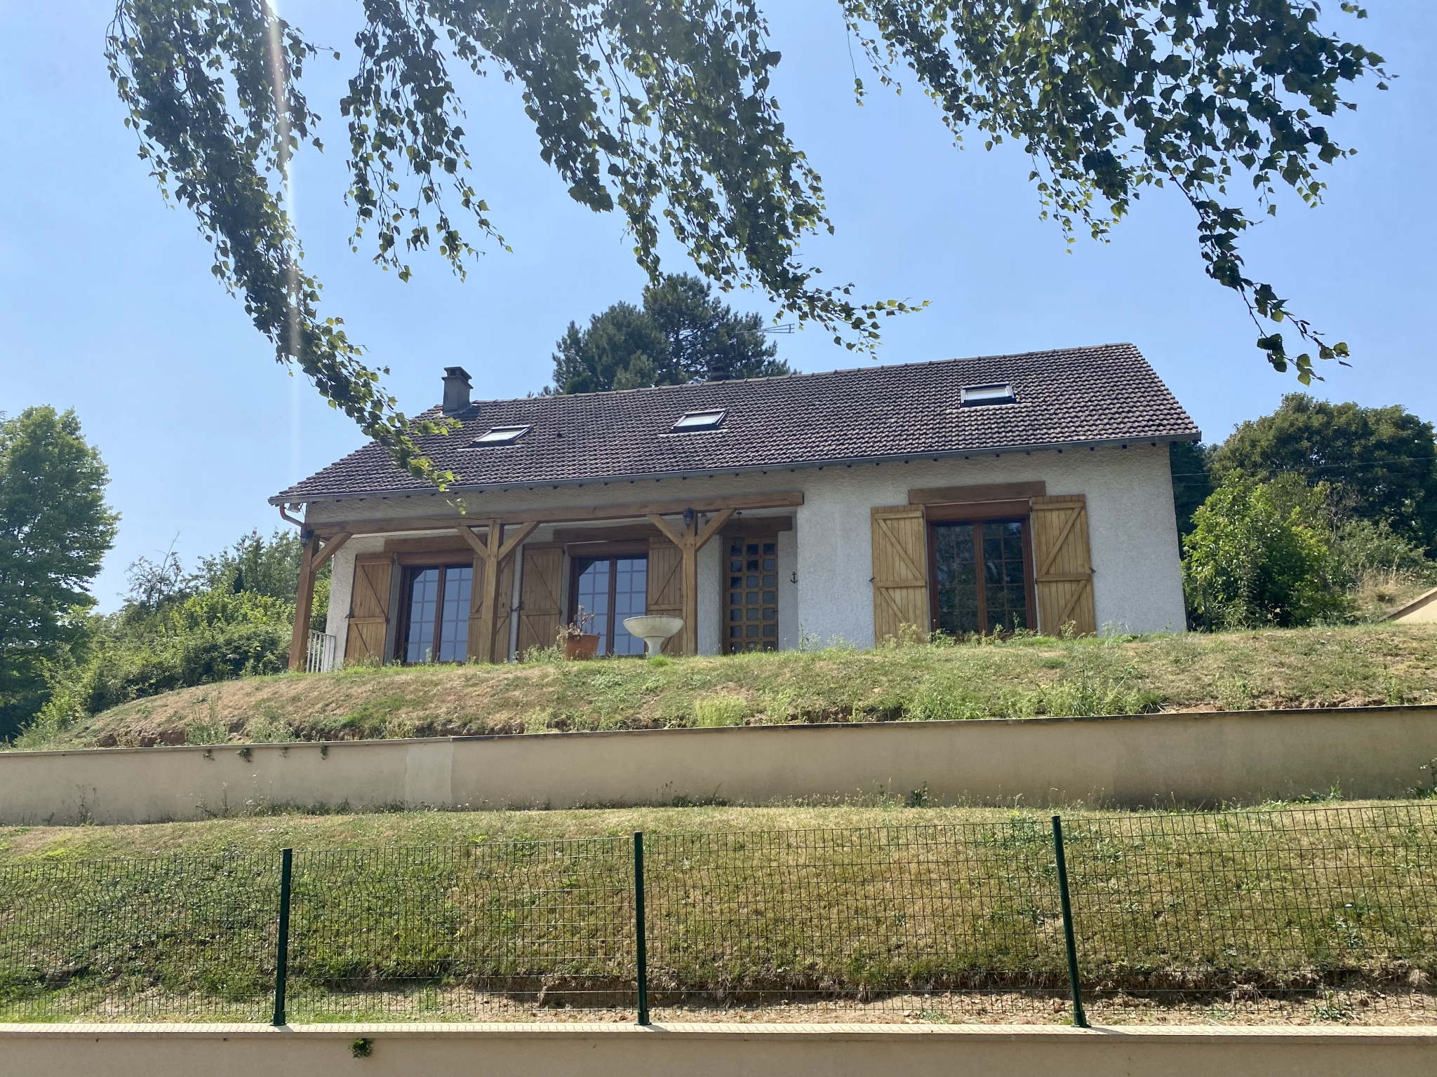
[[[1092,1020],[1437,1022],[1437,807],[1063,827]]]

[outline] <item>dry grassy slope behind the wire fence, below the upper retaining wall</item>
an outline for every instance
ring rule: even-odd
[[[1434,824],[1431,801],[1069,816],[1088,982],[1181,987],[1219,1001],[1237,985],[1280,991],[1332,976],[1388,997],[1420,987],[1437,974],[1424,882],[1437,870]],[[859,826],[887,829],[849,830]],[[424,984],[470,992],[431,999],[431,1018],[473,1011],[477,994],[497,991],[512,1005],[514,991],[539,981],[555,988],[555,1002],[589,979],[622,988],[632,976],[625,895],[635,829],[651,836],[655,989],[721,988],[731,999],[733,991],[854,998],[864,988],[1063,987],[1052,846],[1038,813],[274,816],[0,830],[0,908],[47,913],[0,916],[0,1020],[106,1008],[111,1020],[213,1018],[216,1008],[260,1020],[274,850],[289,844],[302,850],[292,988],[309,1017],[372,1017],[391,1005],[424,1017],[414,997]],[[665,837],[693,831],[708,836]],[[496,840],[589,836],[615,840],[517,849]],[[98,860],[154,853],[178,856]],[[381,987],[399,998],[378,998]],[[928,1005],[935,1020],[957,1015],[951,1001]],[[1309,1010],[1311,1001],[1299,1020],[1312,1020]]]

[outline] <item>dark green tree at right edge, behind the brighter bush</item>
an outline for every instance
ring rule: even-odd
[[[1211,455],[1216,478],[1242,470],[1259,480],[1300,475],[1325,482],[1339,516],[1387,523],[1437,547],[1437,439],[1433,424],[1401,405],[1364,408],[1288,393],[1272,415],[1249,419]]]

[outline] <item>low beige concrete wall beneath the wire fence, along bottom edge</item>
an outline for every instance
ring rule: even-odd
[[[354,1057],[356,1038],[371,1054]],[[0,1077],[1418,1077],[1437,1028],[0,1025]]]

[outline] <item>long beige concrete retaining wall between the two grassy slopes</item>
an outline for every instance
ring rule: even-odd
[[[931,804],[1203,806],[1431,787],[1437,707],[773,725],[0,754],[0,823],[267,807],[764,804],[925,790]]]

